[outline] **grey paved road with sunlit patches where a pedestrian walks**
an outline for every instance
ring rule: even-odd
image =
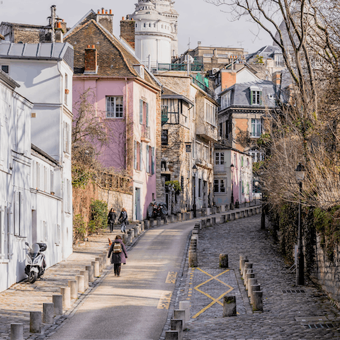
[[[193,221],[150,229],[49,339],[158,340]]]

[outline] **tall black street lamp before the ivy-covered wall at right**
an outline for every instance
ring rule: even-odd
[[[299,163],[295,169],[296,179],[299,183],[300,196],[299,196],[299,218],[298,218],[298,229],[299,229],[299,241],[297,243],[297,271],[296,271],[296,285],[305,285],[305,263],[302,251],[302,227],[301,227],[301,197],[302,197],[302,181],[305,179],[305,166]]]

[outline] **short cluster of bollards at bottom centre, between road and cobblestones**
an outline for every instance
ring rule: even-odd
[[[174,310],[170,320],[170,330],[165,332],[165,340],[182,340],[186,322],[190,320],[190,302],[180,301],[179,310]]]

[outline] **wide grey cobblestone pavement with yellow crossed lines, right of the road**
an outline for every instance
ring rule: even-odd
[[[186,259],[176,299],[176,308],[179,301],[191,302],[183,339],[340,339],[339,310],[314,286],[295,288],[295,273],[288,271],[260,225],[261,215],[254,215],[200,230],[198,268],[188,268]],[[229,256],[229,268],[219,268],[222,253]],[[239,275],[239,255],[254,263],[263,312],[252,312]],[[222,317],[223,295],[236,296],[237,317]]]

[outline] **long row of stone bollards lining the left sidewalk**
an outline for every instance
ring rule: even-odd
[[[68,287],[60,288],[60,294],[52,295],[52,302],[43,303],[42,312],[30,312],[30,333],[41,334],[42,324],[54,324],[54,318],[63,314],[63,308],[71,307],[71,299],[77,299],[79,293],[85,293],[89,283],[101,276],[108,264],[108,251],[103,251],[91,262],[91,266],[85,266],[85,271],[81,271],[75,280],[68,281]],[[11,324],[11,340],[23,340],[23,324]]]

